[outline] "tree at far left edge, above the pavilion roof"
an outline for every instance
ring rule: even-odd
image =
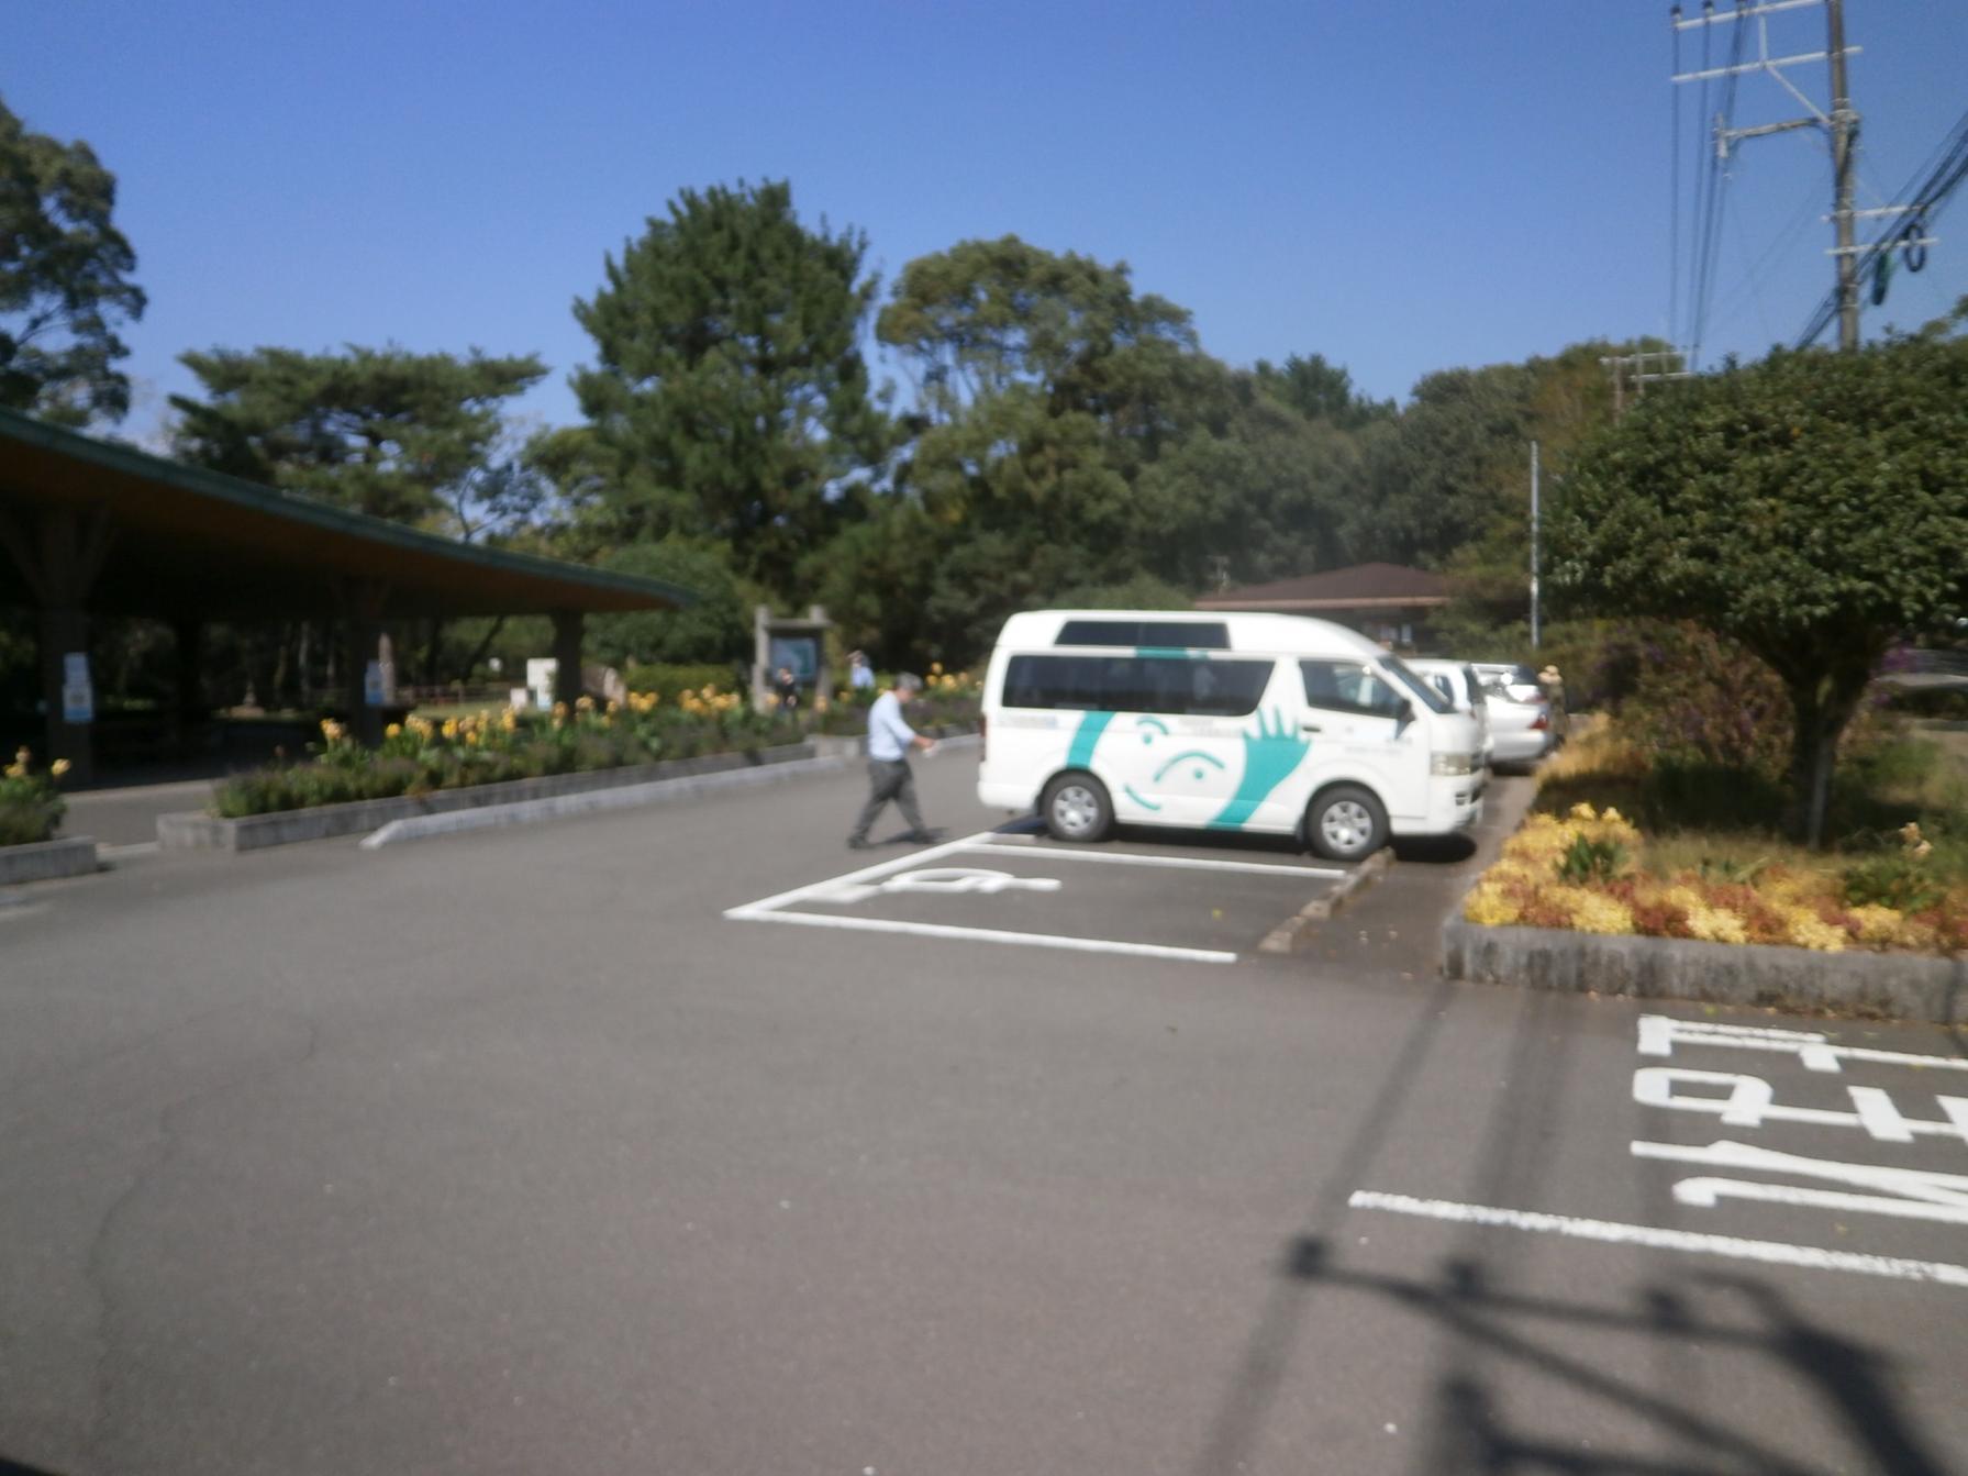
[[[94,150],[30,134],[0,102],[0,405],[57,425],[130,409],[116,327],[144,317],[144,291],[114,207]]]

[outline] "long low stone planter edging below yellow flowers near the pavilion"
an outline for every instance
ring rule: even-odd
[[[260,850],[264,846],[287,846],[297,840],[327,840],[376,830],[390,821],[405,821],[413,815],[449,815],[461,809],[512,805],[522,799],[553,799],[590,789],[618,789],[622,785],[679,779],[693,773],[724,773],[726,769],[785,764],[811,756],[813,744],[785,744],[783,748],[762,748],[746,754],[705,754],[701,758],[663,760],[661,764],[638,764],[624,769],[553,773],[543,779],[512,779],[508,783],[480,783],[468,789],[439,789],[429,795],[403,799],[358,799],[348,805],[283,809],[272,815],[248,815],[238,821],[220,821],[201,813],[159,815],[157,844],[163,850]]]

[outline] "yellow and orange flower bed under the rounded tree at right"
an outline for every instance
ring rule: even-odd
[[[1462,915],[1488,927],[1761,943],[1844,953],[1968,953],[1968,886],[1927,872],[1919,825],[1899,848],[1840,866],[1718,866],[1659,876],[1618,809],[1531,815]]]

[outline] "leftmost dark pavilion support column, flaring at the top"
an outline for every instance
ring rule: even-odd
[[[110,547],[108,508],[49,508],[39,516],[0,512],[0,545],[14,557],[39,606],[41,701],[47,708],[41,760],[67,760],[69,783],[87,785],[96,773],[94,728],[69,722],[63,687],[69,657],[89,657],[89,594]]]

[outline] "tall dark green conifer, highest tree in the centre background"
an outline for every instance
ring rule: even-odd
[[[683,191],[575,303],[598,362],[573,376],[606,453],[618,541],[720,539],[791,594],[838,523],[840,482],[880,459],[862,325],[866,236],[807,228],[791,185]]]

